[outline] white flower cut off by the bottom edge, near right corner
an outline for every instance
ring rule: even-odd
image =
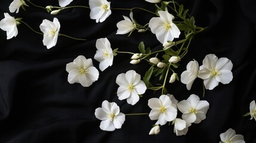
[[[236,135],[236,131],[229,128],[226,132],[220,134],[220,143],[245,143],[243,135]]]

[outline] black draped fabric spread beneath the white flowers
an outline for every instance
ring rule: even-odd
[[[162,126],[158,135],[148,135],[155,121],[149,116],[127,116],[121,129],[106,132],[99,128],[100,120],[94,116],[95,108],[107,100],[116,102],[121,112],[149,113],[147,101],[159,97],[152,91],[146,91],[135,105],[120,101],[116,96],[118,85],[116,76],[128,70],[144,75],[148,64],[129,64],[130,55],[119,54],[114,58],[113,66],[100,71],[99,79],[89,88],[67,82],[66,64],[78,55],[93,58],[98,38],[109,39],[112,49],[138,52],[141,41],[152,50],[161,49],[155,35],[151,32],[137,33],[131,36],[116,35],[116,23],[123,20],[122,15],[129,11],[112,10],[112,14],[103,23],[90,19],[90,10],[70,8],[58,15],[50,15],[33,5],[20,9],[18,14],[10,13],[8,7],[12,1],[0,2],[0,19],[4,13],[23,21],[40,31],[42,20],[60,21],[60,33],[88,41],[76,41],[63,36],[57,45],[47,49],[42,44],[42,35],[30,30],[26,25],[18,26],[18,35],[6,39],[6,32],[0,31],[0,142],[219,142],[220,133],[232,128],[243,135],[245,142],[256,142],[256,121],[242,115],[249,111],[249,103],[256,100],[256,2],[253,0],[193,0],[183,1],[189,13],[195,16],[196,25],[208,26],[205,32],[195,36],[188,54],[180,61],[177,71],[181,74],[186,64],[193,59],[202,64],[206,54],[215,54],[218,58],[227,57],[233,63],[233,80],[228,85],[220,83],[212,91],[206,90],[202,97],[202,81],[197,79],[190,91],[186,85],[175,82],[168,85],[168,91],[177,100],[185,100],[190,94],[199,95],[201,100],[209,102],[206,119],[192,124],[187,135],[176,136],[173,126]],[[58,5],[58,1],[32,1],[43,7]],[[88,1],[76,0],[70,5],[88,6]],[[113,8],[142,7],[154,10],[155,6],[146,1],[112,0]],[[153,15],[134,10],[134,18],[139,23],[147,23]],[[98,62],[93,60],[98,68]],[[156,77],[158,78],[158,77]]]

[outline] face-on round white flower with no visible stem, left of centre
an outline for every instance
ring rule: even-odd
[[[66,70],[69,73],[67,81],[70,84],[81,83],[82,86],[88,87],[98,80],[98,70],[93,66],[91,58],[85,58],[79,55],[71,63],[68,63]]]

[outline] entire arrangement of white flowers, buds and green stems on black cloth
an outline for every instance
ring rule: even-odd
[[[58,0],[60,7],[48,5],[40,7],[48,13],[56,15],[66,8],[73,0]],[[116,77],[117,97],[119,100],[127,100],[128,104],[135,105],[140,100],[146,90],[158,91],[161,90],[159,98],[150,98],[148,106],[151,109],[148,114],[151,120],[156,120],[155,125],[150,130],[149,135],[158,134],[161,126],[174,125],[174,133],[186,135],[192,123],[198,124],[206,119],[206,113],[209,109],[209,102],[200,100],[198,95],[191,94],[186,100],[177,101],[174,95],[169,94],[166,89],[166,84],[181,82],[186,84],[187,90],[192,88],[193,82],[198,78],[203,80],[203,88],[212,90],[219,83],[227,84],[233,79],[232,61],[228,58],[218,58],[215,54],[208,54],[202,61],[202,66],[199,66],[198,61],[192,60],[186,70],[179,74],[175,71],[181,64],[179,63],[186,56],[190,43],[195,35],[203,32],[205,28],[195,25],[195,18],[188,14],[189,10],[184,10],[183,5],[177,4],[175,1],[161,0],[146,0],[147,2],[155,3],[156,11],[152,12],[144,8],[140,10],[147,11],[155,16],[152,17],[146,25],[137,23],[134,19],[132,10],[135,8],[117,8],[116,10],[129,10],[129,17],[123,15],[124,20],[116,23],[116,35],[132,35],[132,32],[151,32],[162,45],[159,51],[151,51],[150,48],[145,48],[144,42],[138,44],[138,52],[132,53],[129,51],[118,51],[118,48],[112,49],[110,41],[107,38],[99,38],[95,42],[94,60],[99,62],[99,69],[106,70],[112,66],[115,56],[119,54],[131,54],[131,64],[146,63],[150,68],[144,76],[138,74],[135,70],[128,70],[126,73],[120,73]],[[161,5],[158,5],[161,3]],[[11,2],[10,13],[18,13],[20,7],[25,9],[25,6],[34,5],[31,1],[14,0]],[[112,7],[110,2],[106,0],[89,0],[87,6],[77,6],[90,9],[90,18],[96,23],[102,23],[110,14]],[[18,24],[25,24],[33,32],[43,36],[42,43],[47,49],[57,45],[58,36],[66,36],[75,40],[86,41],[86,39],[73,38],[60,33],[60,22],[58,18],[51,20],[43,20],[39,25],[41,32],[36,32],[32,27],[25,23],[22,18],[14,18],[8,13],[4,13],[4,19],[0,21],[0,28],[7,32],[7,39],[11,39],[18,35]],[[180,36],[182,35],[182,36]],[[91,86],[92,83],[98,80],[99,71],[92,64],[92,58],[86,58],[84,55],[79,55],[73,62],[66,64],[66,71],[69,73],[67,82],[70,84],[80,83],[84,87]],[[153,77],[159,77],[159,82],[152,82]],[[180,81],[179,81],[180,80]],[[202,96],[203,97],[203,96]],[[178,111],[181,117],[178,116]],[[132,115],[138,115],[132,114]],[[250,104],[251,119],[256,120],[255,101]],[[100,129],[113,131],[120,129],[125,122],[125,116],[120,112],[119,106],[115,102],[104,100],[101,107],[95,109],[95,117],[102,120]],[[131,114],[129,114],[131,115]],[[235,135],[235,130],[229,129],[220,135],[222,142],[242,142],[243,136]]]

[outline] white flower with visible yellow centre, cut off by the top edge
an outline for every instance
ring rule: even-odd
[[[110,2],[106,0],[89,0],[90,18],[103,22],[111,14]]]

